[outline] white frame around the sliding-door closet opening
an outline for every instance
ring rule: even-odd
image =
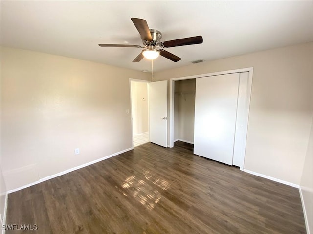
[[[252,88],[252,77],[253,77],[253,67],[247,67],[247,68],[241,68],[241,69],[235,69],[235,70],[228,70],[228,71],[221,71],[221,72],[214,72],[214,73],[206,73],[206,74],[200,74],[200,75],[193,75],[193,76],[186,76],[186,77],[178,77],[178,78],[171,78],[170,79],[170,113],[169,113],[169,147],[174,147],[174,89],[175,89],[175,81],[178,80],[184,80],[184,79],[195,79],[195,78],[202,78],[202,77],[210,77],[210,76],[216,76],[216,75],[224,75],[224,74],[230,74],[230,73],[241,73],[241,72],[249,72],[248,75],[248,84],[246,89],[246,95],[247,95],[247,105],[245,113],[249,115],[249,109],[250,109],[250,98],[251,98],[251,88]],[[244,129],[247,132],[247,126],[248,126],[248,116],[246,117],[246,122],[244,123],[245,127]],[[240,170],[244,170],[244,160],[245,160],[245,153],[246,153],[246,133],[243,135],[242,144],[239,147],[242,147],[241,153],[243,161],[240,165]]]

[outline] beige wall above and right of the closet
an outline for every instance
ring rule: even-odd
[[[312,120],[312,64],[312,43],[305,43],[157,72],[155,80],[254,67],[244,168],[299,185]]]

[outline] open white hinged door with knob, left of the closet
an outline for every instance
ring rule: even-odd
[[[167,147],[167,80],[148,86],[150,142]]]

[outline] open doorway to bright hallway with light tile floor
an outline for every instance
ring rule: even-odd
[[[130,80],[133,146],[149,142],[148,81]]]

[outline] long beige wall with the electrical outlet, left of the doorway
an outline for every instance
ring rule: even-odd
[[[131,148],[130,78],[148,74],[2,47],[1,166],[7,189]]]

